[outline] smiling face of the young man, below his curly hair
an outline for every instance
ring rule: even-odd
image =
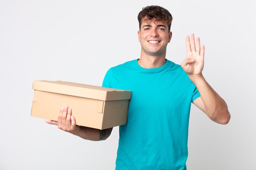
[[[155,18],[144,20],[138,31],[141,52],[146,55],[165,55],[166,46],[171,41],[171,37],[172,33],[168,31],[166,21],[157,21]]]

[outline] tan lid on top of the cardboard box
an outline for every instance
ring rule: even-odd
[[[46,80],[34,80],[33,89],[39,91],[47,91],[51,93],[59,93],[64,95],[98,99],[103,101],[131,99],[132,95],[131,91],[116,88],[107,88],[73,82]]]

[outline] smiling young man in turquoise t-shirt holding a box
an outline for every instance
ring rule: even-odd
[[[225,101],[202,75],[204,46],[194,35],[186,37],[186,59],[181,65],[166,59],[171,41],[172,16],[159,6],[145,7],[138,15],[141,56],[110,68],[103,86],[132,91],[128,121],[119,127],[116,170],[186,170],[191,102],[211,120],[227,124]],[[196,41],[196,45],[195,45]],[[76,126],[70,108],[61,108],[58,128],[84,139],[104,140],[112,128]]]

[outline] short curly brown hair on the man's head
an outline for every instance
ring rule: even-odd
[[[139,30],[141,27],[141,23],[144,21],[142,20],[144,17],[147,17],[145,20],[151,20],[152,18],[155,18],[157,21],[164,20],[168,24],[169,31],[171,30],[171,22],[173,20],[173,17],[171,13],[163,7],[159,7],[157,5],[144,7],[138,15]]]

